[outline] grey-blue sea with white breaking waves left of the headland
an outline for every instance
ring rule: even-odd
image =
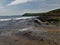
[[[0,16],[0,30],[24,29],[33,26],[35,16]]]

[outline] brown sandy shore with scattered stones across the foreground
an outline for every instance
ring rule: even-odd
[[[19,30],[5,30],[4,35],[0,34],[0,45],[60,45],[60,32],[58,31],[60,28],[32,28],[33,32],[25,31],[26,33],[22,32],[23,35],[21,33],[16,35]],[[40,33],[39,31],[42,32]],[[3,31],[0,30],[0,32]]]

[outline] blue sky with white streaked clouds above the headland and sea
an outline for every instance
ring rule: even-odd
[[[47,12],[60,8],[60,0],[0,0],[0,16]]]

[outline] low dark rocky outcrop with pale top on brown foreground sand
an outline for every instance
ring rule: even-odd
[[[39,41],[50,41],[53,43],[60,43],[58,40],[60,37],[60,33],[50,33],[46,30],[32,30],[32,29],[27,29],[27,30],[19,30],[16,35],[18,36],[23,36],[26,37],[29,40],[39,40]]]

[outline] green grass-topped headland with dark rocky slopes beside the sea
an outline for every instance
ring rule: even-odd
[[[48,25],[60,25],[60,9],[55,9],[44,13],[25,13],[23,16],[39,16],[38,19],[42,22],[47,22]]]

